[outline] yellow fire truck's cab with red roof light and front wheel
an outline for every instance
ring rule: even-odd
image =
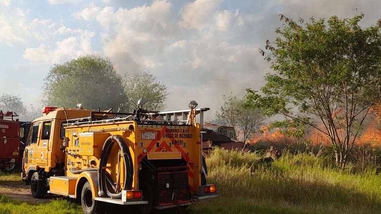
[[[42,113],[42,117],[31,122],[22,167],[22,179],[26,184],[32,184],[32,195],[36,198],[45,195],[48,189],[39,191],[38,185],[48,187],[48,177],[64,173],[65,157],[60,145],[67,120],[88,116],[90,111],[44,107]]]

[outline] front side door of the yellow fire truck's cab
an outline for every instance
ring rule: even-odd
[[[25,149],[25,156],[24,156],[26,169],[28,169],[30,165],[36,165],[36,157],[37,157],[36,149],[37,149],[37,142],[39,141],[40,128],[41,128],[40,122],[35,122],[31,126],[29,139],[28,139],[28,146]]]

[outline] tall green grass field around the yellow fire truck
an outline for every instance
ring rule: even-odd
[[[209,182],[220,197],[199,202],[189,214],[379,214],[381,176],[377,170],[351,173],[331,160],[284,154],[272,164],[256,153],[216,149],[206,159]],[[15,179],[1,175],[0,179]],[[1,214],[79,214],[79,205],[64,199],[38,205],[0,197]],[[179,210],[172,211],[179,213]],[[168,213],[168,212],[159,212]]]

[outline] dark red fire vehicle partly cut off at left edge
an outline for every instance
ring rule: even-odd
[[[0,111],[0,169],[12,171],[22,160],[29,123],[19,122],[14,112]]]

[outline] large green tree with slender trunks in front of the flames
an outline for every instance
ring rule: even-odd
[[[363,17],[304,23],[281,15],[285,25],[261,50],[275,73],[266,75],[261,95],[247,89],[248,105],[325,134],[340,167],[381,98],[381,22],[362,28]]]

